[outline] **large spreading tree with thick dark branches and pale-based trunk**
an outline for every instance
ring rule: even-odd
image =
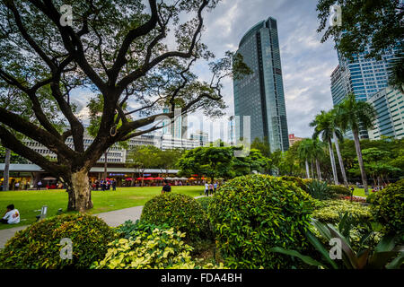
[[[143,2],[0,3],[0,81],[30,101],[37,120],[0,107],[0,139],[5,147],[64,180],[68,210],[92,208],[88,172],[112,144],[161,128],[162,116],[174,117],[175,108],[182,114],[204,108],[220,115],[225,107],[220,81],[233,71],[249,70],[240,56],[227,53],[210,65],[209,83],[190,72],[197,60],[213,57],[201,42],[201,31],[204,13],[218,0]],[[60,12],[63,4],[71,7],[72,25]],[[72,91],[84,86],[103,98],[100,128],[87,149],[84,126],[71,100]],[[66,125],[63,132],[44,113],[39,97],[44,89],[57,102]],[[134,107],[127,112],[122,109],[126,102]],[[169,111],[158,112],[163,106]],[[129,115],[136,118],[128,121]],[[13,132],[45,145],[57,154],[57,161],[48,161]],[[73,145],[66,144],[69,136]]]

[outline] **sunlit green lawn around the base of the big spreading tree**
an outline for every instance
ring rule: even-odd
[[[200,196],[204,187],[171,187],[171,192],[188,196]],[[145,204],[154,196],[160,195],[162,187],[118,187],[116,191],[92,191],[92,203],[94,207],[89,214],[105,213],[127,207]],[[62,208],[66,212],[67,193],[65,190],[30,190],[30,191],[4,191],[0,192],[0,213],[3,217],[5,207],[14,204],[21,213],[19,224],[0,224],[0,230],[31,224],[36,221],[36,215],[40,214],[42,205],[48,205],[48,216],[56,215]]]

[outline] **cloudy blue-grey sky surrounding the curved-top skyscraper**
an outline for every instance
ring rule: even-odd
[[[202,41],[216,58],[224,57],[227,50],[236,51],[242,36],[257,22],[269,16],[277,19],[288,131],[300,137],[311,137],[313,117],[332,108],[330,74],[338,65],[334,43],[321,44],[321,34],[316,31],[316,4],[317,0],[223,0],[204,14]],[[193,72],[202,80],[210,79],[206,63],[198,62]],[[78,97],[74,97],[82,99],[81,107],[85,107],[86,92],[77,91]],[[224,80],[223,95],[228,106],[221,120],[224,127],[220,128],[219,120],[204,119],[203,129],[211,140],[223,137],[227,118],[234,113],[232,79]],[[85,117],[86,110],[81,114]]]

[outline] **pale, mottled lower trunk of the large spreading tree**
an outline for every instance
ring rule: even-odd
[[[83,168],[71,173],[67,193],[69,195],[67,210],[83,213],[92,208],[92,190],[87,169]]]

